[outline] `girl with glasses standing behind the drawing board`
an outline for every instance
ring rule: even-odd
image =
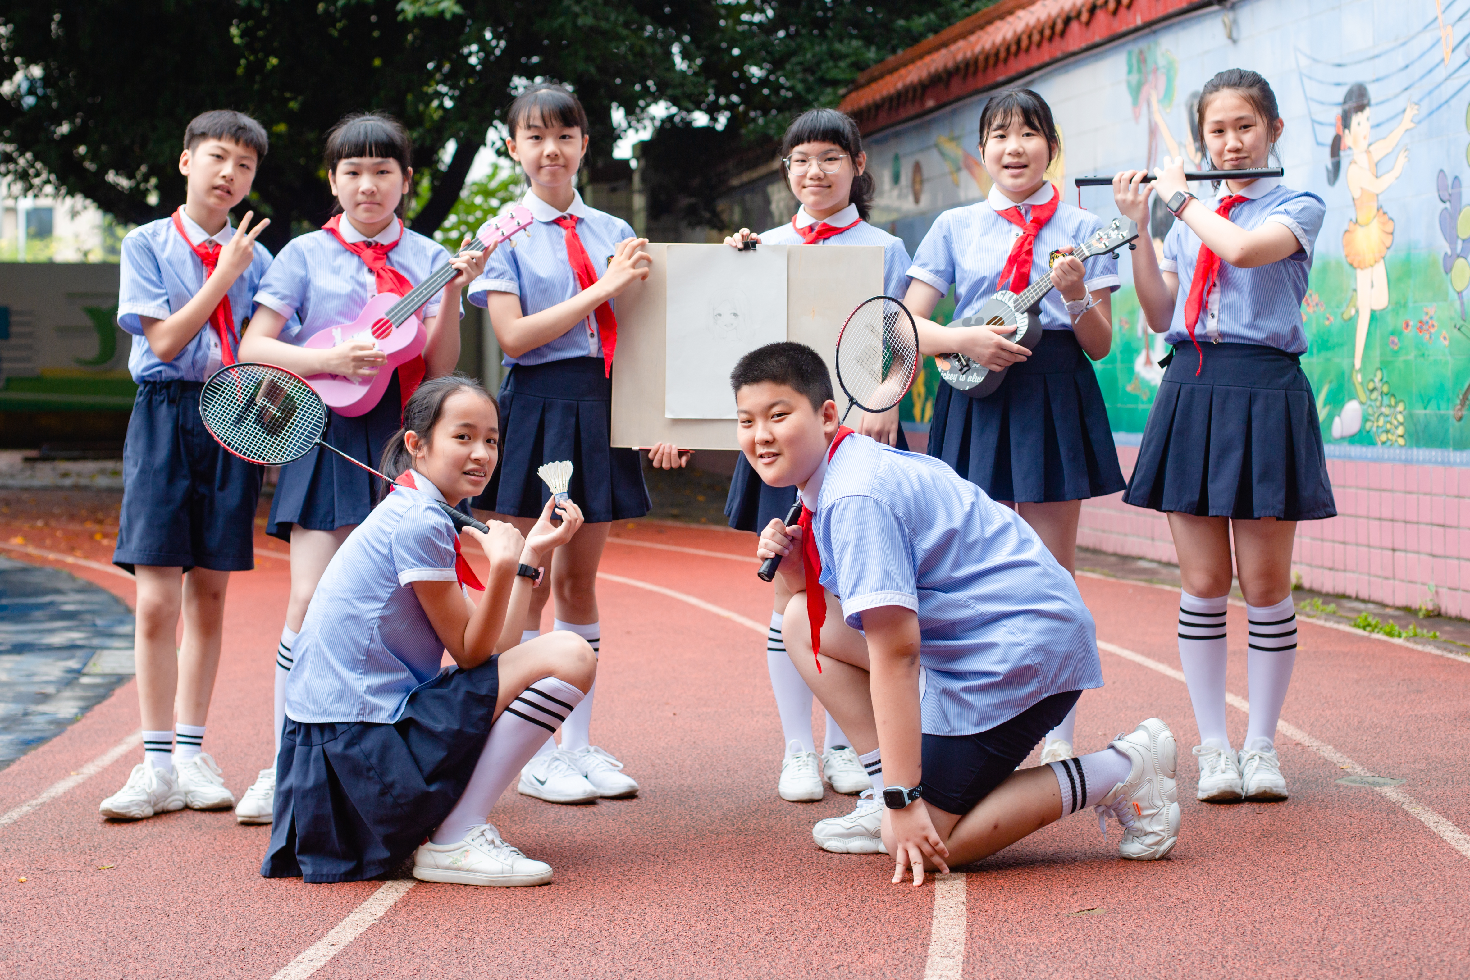
[[[791,192],[801,207],[785,225],[760,235],[742,228],[725,242],[736,248],[747,239],[767,245],[882,245],[883,292],[901,298],[908,288],[908,250],[901,238],[867,223],[876,185],[867,173],[867,154],[863,153],[857,123],[836,109],[804,112],[782,137],[781,157]],[[898,408],[882,414],[861,413],[854,428],[888,445],[900,445]],[[760,533],[772,517],[785,520],[795,500],[795,486],[766,486],[739,455],[725,516],[731,527]],[[817,754],[811,742],[811,691],[791,664],[781,630],[782,611],[791,595],[785,594],[782,579],[778,577],[775,586],[766,635],[766,669],[786,748],[776,792],[782,799],[822,799],[823,777],[839,793],[866,792],[870,786],[867,770],[831,713],[826,716],[822,774],[817,774]]]

